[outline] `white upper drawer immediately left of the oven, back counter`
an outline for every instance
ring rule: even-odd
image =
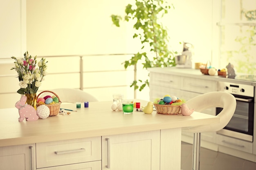
[[[217,91],[217,82],[184,77],[181,82],[181,89],[203,94],[211,91]]]

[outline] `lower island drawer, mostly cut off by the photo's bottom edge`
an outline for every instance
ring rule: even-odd
[[[63,166],[53,166],[49,168],[40,168],[37,170],[101,170],[101,161],[76,163],[72,165]]]

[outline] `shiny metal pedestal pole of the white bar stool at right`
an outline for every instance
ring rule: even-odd
[[[201,133],[194,133],[192,170],[199,170],[200,165],[200,138]]]

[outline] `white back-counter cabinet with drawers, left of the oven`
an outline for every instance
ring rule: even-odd
[[[157,68],[158,69],[158,68]],[[179,98],[189,100],[200,94],[217,91],[217,82],[210,79],[191,78],[184,74],[183,76],[173,75],[171,72],[159,73],[154,69],[150,70],[150,101],[155,98],[161,98],[164,95],[175,95]],[[215,115],[216,109],[209,108],[202,110],[202,113]],[[192,143],[193,134],[182,132],[182,135],[191,137],[189,143]],[[204,141],[216,141],[216,132],[204,132],[201,135]],[[187,141],[188,142],[188,141]]]

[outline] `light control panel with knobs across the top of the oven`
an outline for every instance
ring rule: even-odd
[[[254,86],[247,84],[236,84],[230,82],[218,82],[218,91],[225,91],[234,95],[254,97]]]

